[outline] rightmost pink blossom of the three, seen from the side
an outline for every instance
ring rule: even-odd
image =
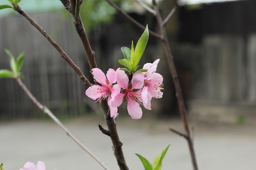
[[[151,99],[154,98],[162,98],[163,92],[161,92],[163,86],[163,76],[155,73],[157,70],[157,64],[159,59],[155,60],[153,63],[146,63],[143,66],[143,69],[148,69],[146,72],[146,78],[144,81],[144,87],[141,90],[141,98],[143,102],[143,106],[151,110]]]

